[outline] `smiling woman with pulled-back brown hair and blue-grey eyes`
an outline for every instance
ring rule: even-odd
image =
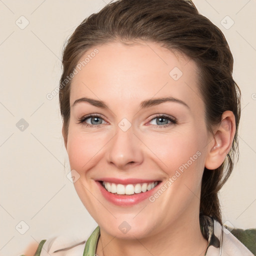
[[[74,187],[98,223],[35,255],[252,255],[222,227],[240,90],[221,31],[185,0],[118,0],[63,51],[62,134]]]

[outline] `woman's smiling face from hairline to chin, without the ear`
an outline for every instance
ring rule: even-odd
[[[195,62],[153,42],[95,48],[70,89],[66,149],[78,196],[116,237],[187,225],[198,218],[211,139]]]

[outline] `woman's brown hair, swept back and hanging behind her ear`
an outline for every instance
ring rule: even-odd
[[[81,22],[63,50],[59,103],[64,141],[66,143],[68,135],[72,81],[66,77],[72,73],[78,60],[96,45],[138,39],[160,43],[165,48],[185,53],[196,62],[200,70],[199,90],[206,108],[205,120],[210,131],[213,125],[220,123],[225,110],[234,113],[236,132],[226,163],[224,161],[215,170],[204,168],[201,183],[200,214],[212,215],[222,224],[218,191],[231,174],[235,152],[238,156],[240,90],[232,78],[233,58],[224,35],[198,13],[191,1],[118,0]]]

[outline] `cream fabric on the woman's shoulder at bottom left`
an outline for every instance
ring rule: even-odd
[[[82,255],[86,240],[75,235],[62,234],[41,240],[34,256]]]

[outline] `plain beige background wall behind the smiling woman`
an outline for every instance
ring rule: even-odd
[[[58,86],[66,37],[107,2],[0,0],[0,255],[18,255],[29,241],[58,233],[86,238],[96,226],[66,178],[58,95],[46,94]],[[223,221],[256,227],[256,1],[194,3],[225,34],[242,91],[240,158],[220,193]]]

